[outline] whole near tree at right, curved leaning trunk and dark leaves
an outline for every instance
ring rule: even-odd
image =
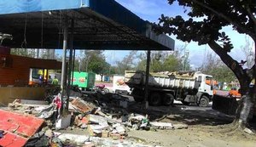
[[[234,31],[246,34],[255,42],[256,1],[168,0],[169,4],[174,1],[185,8],[184,12],[188,14],[189,19],[184,20],[180,15],[173,18],[162,14],[160,23],[154,27],[154,30],[174,34],[183,42],[194,41],[199,45],[208,44],[218,54],[240,82],[242,103],[237,110],[234,123],[238,128],[245,127],[255,97],[249,85],[253,80],[253,75],[256,74],[256,66],[253,65],[252,68],[245,70],[242,68],[243,61],[236,61],[228,54],[233,45],[223,28],[232,26]]]

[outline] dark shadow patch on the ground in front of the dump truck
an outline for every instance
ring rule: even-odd
[[[224,125],[233,121],[232,116],[224,115],[212,107],[198,107],[186,105],[174,106],[149,106],[148,110],[143,109],[143,105],[131,105],[130,109],[134,113],[143,113],[150,116],[150,121],[185,123],[188,125]]]

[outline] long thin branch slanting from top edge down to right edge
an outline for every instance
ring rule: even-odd
[[[208,10],[212,11],[213,14],[216,14],[220,17],[222,17],[224,20],[227,20],[230,22],[230,24],[235,25],[237,28],[239,28],[241,31],[244,31],[245,33],[247,33],[250,37],[254,38],[254,34],[250,31],[248,31],[247,29],[245,29],[244,27],[242,27],[241,25],[239,25],[238,23],[236,23],[235,21],[231,20],[229,17],[225,16],[224,14],[214,10],[213,8],[208,7],[206,4],[198,2],[197,0],[191,0],[194,3],[197,3],[198,5],[200,5],[203,8],[207,8]]]

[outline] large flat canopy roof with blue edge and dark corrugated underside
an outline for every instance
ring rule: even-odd
[[[3,45],[61,48],[64,19],[68,20],[69,34],[73,32],[74,48],[174,49],[172,38],[156,36],[147,21],[114,0],[1,0],[0,32],[13,36]]]

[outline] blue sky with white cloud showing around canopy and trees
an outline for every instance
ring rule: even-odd
[[[177,3],[169,5],[167,0],[116,0],[118,3],[123,5],[125,8],[128,8],[132,13],[137,14],[143,20],[148,20],[150,22],[158,22],[161,14],[168,16],[182,15],[183,7],[179,7]],[[234,45],[230,55],[237,60],[244,59],[244,55],[241,54],[240,48],[245,43],[245,36],[233,31],[231,27],[224,28],[224,31],[227,35],[230,36],[231,42]],[[177,40],[175,37],[171,36],[175,40],[175,50],[182,48],[185,45],[185,42]],[[189,51],[189,60],[190,64],[195,67],[202,65],[204,60],[204,55],[207,52],[212,53],[211,48],[206,45],[198,46],[196,42],[189,42],[186,48]],[[105,51],[105,56],[108,63],[114,64],[116,61],[119,61],[129,54],[129,51]]]

